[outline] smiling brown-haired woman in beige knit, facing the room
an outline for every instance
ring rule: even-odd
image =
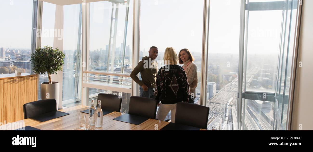
[[[182,68],[187,75],[187,81],[189,83],[190,95],[188,102],[193,103],[196,98],[196,87],[198,85],[197,66],[193,63],[194,58],[188,49],[182,49],[179,51],[179,64],[184,64]]]

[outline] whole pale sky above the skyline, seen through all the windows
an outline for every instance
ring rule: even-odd
[[[0,16],[0,47],[30,48],[32,0],[11,2],[0,1],[0,14],[8,14]],[[64,50],[77,49],[79,6],[64,6]],[[106,1],[90,4],[90,50],[105,49],[109,43],[111,7]],[[131,46],[132,5],[129,12],[126,45]],[[125,5],[119,5],[116,47],[123,43],[125,13]],[[54,29],[54,16],[55,5],[44,2],[43,28]],[[281,18],[282,11],[249,12],[248,51],[276,54]],[[238,53],[239,23],[240,0],[210,0],[209,53]],[[203,0],[141,0],[141,51],[156,46],[159,51],[174,47],[200,53],[202,33]],[[53,38],[42,38],[42,45],[53,45]]]

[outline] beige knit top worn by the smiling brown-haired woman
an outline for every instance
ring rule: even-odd
[[[189,83],[190,94],[193,93],[193,96],[196,97],[196,87],[198,85],[198,74],[197,74],[197,66],[195,63],[191,62],[189,65],[188,63],[190,60],[184,62],[182,68],[185,69],[187,75],[187,81]],[[188,66],[187,66],[188,65]],[[185,66],[187,66],[185,68]]]

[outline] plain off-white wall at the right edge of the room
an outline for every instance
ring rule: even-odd
[[[313,0],[304,0],[291,130],[313,130]],[[303,67],[299,67],[299,62]]]

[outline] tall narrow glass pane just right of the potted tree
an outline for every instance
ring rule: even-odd
[[[81,54],[81,4],[65,5],[63,29],[63,94],[62,106],[81,104],[80,54]]]

